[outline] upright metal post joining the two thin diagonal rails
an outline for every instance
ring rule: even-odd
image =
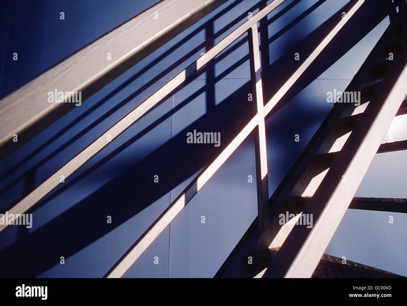
[[[267,152],[266,130],[264,122],[263,87],[261,84],[260,52],[258,43],[257,24],[249,30],[249,58],[250,77],[252,81],[253,101],[256,101],[258,114],[257,127],[254,129],[254,143],[256,150],[256,181],[257,181],[257,206],[258,225],[265,229],[270,222],[269,217],[269,184],[267,178]]]

